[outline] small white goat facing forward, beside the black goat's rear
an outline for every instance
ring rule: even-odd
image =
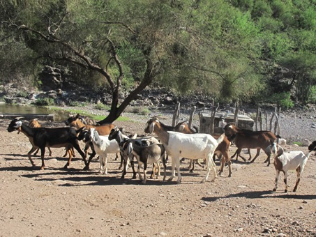
[[[94,151],[99,155],[99,172],[107,174],[107,154],[119,152],[119,144],[116,140],[109,140],[108,136],[99,136],[95,128],[90,128],[90,139],[93,143]]]

